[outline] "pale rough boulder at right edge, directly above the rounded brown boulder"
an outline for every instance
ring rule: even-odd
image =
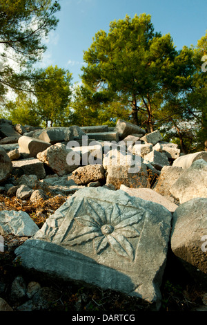
[[[207,198],[207,162],[195,160],[170,188],[170,193],[184,203],[191,198]]]

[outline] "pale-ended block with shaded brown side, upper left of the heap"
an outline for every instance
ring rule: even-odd
[[[30,138],[28,136],[21,136],[19,138],[19,152],[21,154],[28,154],[29,157],[37,157],[37,154],[39,152],[42,152],[46,150],[48,147],[50,147],[50,143],[35,139],[35,138]]]

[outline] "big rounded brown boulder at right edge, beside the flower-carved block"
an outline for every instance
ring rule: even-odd
[[[207,198],[193,198],[177,207],[172,216],[171,248],[186,270],[207,284],[206,207]]]

